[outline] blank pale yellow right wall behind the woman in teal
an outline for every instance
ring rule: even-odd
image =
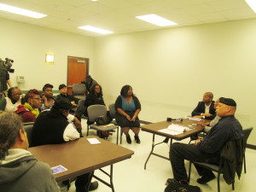
[[[131,84],[143,120],[189,115],[212,91],[234,98],[236,118],[256,127],[255,34],[253,19],[96,38],[94,74],[108,103]]]

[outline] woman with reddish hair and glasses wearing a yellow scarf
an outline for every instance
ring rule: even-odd
[[[29,90],[25,96],[25,104],[18,106],[18,110],[15,112],[19,114],[23,123],[34,122],[38,117],[41,106],[41,99],[38,90]]]

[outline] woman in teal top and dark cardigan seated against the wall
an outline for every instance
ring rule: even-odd
[[[131,137],[129,131],[134,132],[136,143],[141,143],[138,133],[140,131],[140,122],[137,117],[141,111],[141,103],[138,101],[137,96],[133,95],[130,85],[122,87],[120,96],[116,99],[114,107],[116,110],[116,122],[125,133],[127,143],[131,144]]]

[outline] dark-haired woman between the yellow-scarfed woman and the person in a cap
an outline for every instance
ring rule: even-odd
[[[53,94],[52,94],[52,88],[53,85],[52,84],[44,84],[43,87],[43,93],[42,93],[42,106],[44,104],[44,108],[41,108],[42,111],[44,109],[50,109],[52,108],[52,106],[54,105],[55,101],[53,98]]]

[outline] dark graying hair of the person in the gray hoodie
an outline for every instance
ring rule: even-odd
[[[0,112],[0,160],[4,160],[9,148],[11,148],[23,131],[20,117],[15,113]]]

